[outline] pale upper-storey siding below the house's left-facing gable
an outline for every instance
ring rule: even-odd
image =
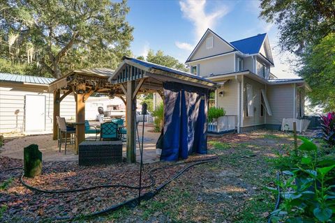
[[[234,72],[234,54],[218,56],[190,63],[190,66],[197,65],[199,65],[199,72],[202,77],[206,77],[211,74],[221,75],[228,72]]]

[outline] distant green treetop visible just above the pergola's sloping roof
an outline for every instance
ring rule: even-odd
[[[142,59],[144,56],[142,56]],[[188,71],[184,63],[180,63],[177,59],[172,56],[165,55],[162,50],[158,50],[156,54],[154,50],[150,49],[146,61],[151,63],[156,63],[162,66],[166,66],[168,68],[174,68],[177,70]]]

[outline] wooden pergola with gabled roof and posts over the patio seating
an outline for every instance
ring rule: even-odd
[[[80,142],[84,141],[84,108],[87,98],[92,93],[105,93],[110,96],[117,96],[126,104],[127,162],[135,162],[135,111],[137,93],[157,92],[163,98],[164,82],[177,82],[205,89],[216,89],[216,84],[208,79],[129,57],[124,57],[114,72],[110,69],[74,70],[70,72],[68,75],[50,83],[50,91],[54,92],[54,140],[57,139],[55,117],[59,116],[59,105],[66,95],[70,93],[75,95],[75,121],[77,123],[76,151]],[[60,96],[61,91],[64,93],[62,96]]]

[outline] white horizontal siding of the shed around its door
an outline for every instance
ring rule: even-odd
[[[24,132],[24,96],[45,95],[45,131],[52,130],[53,94],[32,87],[0,87],[0,132]],[[15,111],[20,112],[15,115]],[[61,101],[61,116],[75,118],[75,99],[68,95]]]

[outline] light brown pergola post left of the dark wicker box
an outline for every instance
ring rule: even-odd
[[[75,154],[78,154],[79,144],[85,140],[85,102],[83,93],[75,93]]]

